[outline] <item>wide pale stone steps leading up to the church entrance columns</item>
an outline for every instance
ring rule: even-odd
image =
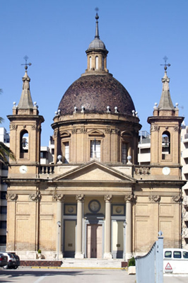
[[[83,259],[75,259],[75,258],[64,258],[62,260],[61,267],[95,267],[95,268],[121,268],[122,259],[115,260],[105,260],[105,259],[93,259],[93,258],[83,258]]]

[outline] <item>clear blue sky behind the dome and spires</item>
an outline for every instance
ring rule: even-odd
[[[168,57],[172,102],[179,103],[187,121],[188,1],[187,0],[0,0],[0,116],[20,100],[25,60],[33,102],[42,124],[42,145],[53,134],[51,124],[61,97],[86,70],[86,53],[95,35],[95,7],[99,34],[109,51],[107,69],[134,101],[142,129],[159,103]]]

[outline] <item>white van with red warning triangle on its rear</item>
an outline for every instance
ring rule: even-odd
[[[164,248],[163,272],[188,273],[188,250],[183,248]]]

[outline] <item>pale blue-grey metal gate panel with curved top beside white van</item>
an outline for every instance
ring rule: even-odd
[[[159,232],[158,241],[143,257],[136,257],[136,282],[163,283],[163,237]]]

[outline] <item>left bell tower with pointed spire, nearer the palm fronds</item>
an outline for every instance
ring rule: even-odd
[[[44,118],[39,115],[37,103],[33,104],[30,95],[30,77],[28,76],[28,57],[25,57],[25,75],[23,90],[18,105],[13,103],[13,114],[10,120],[10,148],[16,155],[16,161],[11,161],[8,177],[18,174],[26,178],[35,177],[37,165],[40,163],[40,134]]]

